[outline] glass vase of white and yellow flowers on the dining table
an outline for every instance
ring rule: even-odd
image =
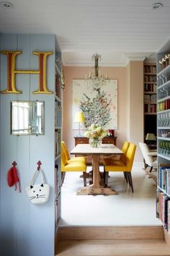
[[[91,124],[84,135],[89,138],[89,145],[92,148],[98,148],[102,144],[102,138],[107,135],[107,131],[98,124]]]

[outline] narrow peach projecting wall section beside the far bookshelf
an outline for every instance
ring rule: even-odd
[[[143,141],[143,61],[128,64],[128,140],[137,145],[135,162],[142,161],[138,142]]]

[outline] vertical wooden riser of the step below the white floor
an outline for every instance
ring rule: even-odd
[[[65,226],[58,240],[69,239],[164,239],[162,226]]]

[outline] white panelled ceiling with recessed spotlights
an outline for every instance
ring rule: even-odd
[[[0,0],[1,1],[1,0]],[[10,1],[10,0],[8,0]],[[2,33],[53,33],[68,66],[123,66],[129,59],[153,58],[170,38],[170,1],[158,0],[12,0],[0,8]]]

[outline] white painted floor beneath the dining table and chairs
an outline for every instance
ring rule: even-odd
[[[61,194],[60,226],[161,225],[156,219],[156,183],[142,168],[133,168],[132,171],[134,193],[122,173],[109,172],[108,185],[118,195],[76,195],[76,191],[83,187],[80,175],[66,173]]]

